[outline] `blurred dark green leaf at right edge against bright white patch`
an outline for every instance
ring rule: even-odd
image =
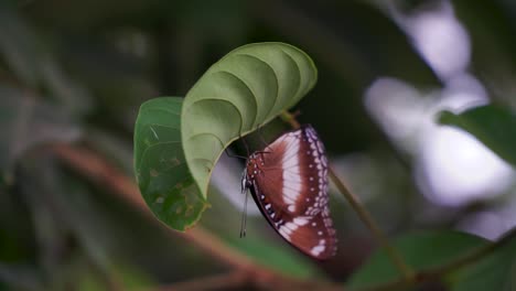
[[[455,115],[440,114],[439,122],[461,128],[516,165],[516,115],[507,107],[486,105]]]

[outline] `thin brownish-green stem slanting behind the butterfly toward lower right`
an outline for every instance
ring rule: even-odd
[[[300,123],[298,120],[295,120],[295,117],[288,112],[283,111],[281,114],[281,118],[290,123],[292,128],[299,128]],[[369,214],[369,212],[359,202],[358,197],[355,196],[347,190],[347,187],[344,185],[344,183],[338,179],[338,176],[335,174],[335,171],[331,166],[329,166],[329,174],[330,179],[332,182],[335,184],[335,186],[338,188],[338,191],[344,195],[346,198],[347,203],[352,206],[352,208],[356,212],[361,220],[369,228],[370,233],[375,237],[375,239],[384,247],[385,251],[387,252],[387,256],[389,259],[393,261],[393,263],[396,266],[396,268],[401,272],[404,276],[404,279],[406,282],[413,282],[415,281],[415,272],[402,259],[401,255],[389,244],[389,240],[387,239],[387,236],[381,231],[381,229],[378,227],[376,224],[375,219],[373,216]]]

